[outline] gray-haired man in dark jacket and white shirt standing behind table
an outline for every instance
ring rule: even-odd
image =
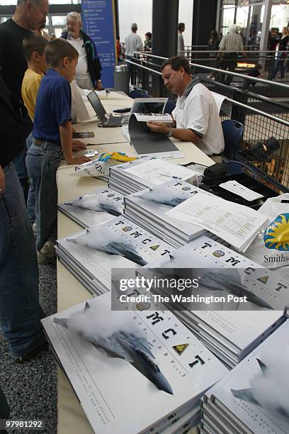
[[[67,14],[67,32],[61,37],[67,41],[79,53],[75,80],[81,89],[101,90],[101,61],[96,51],[96,45],[89,35],[81,30],[81,15],[78,12]]]

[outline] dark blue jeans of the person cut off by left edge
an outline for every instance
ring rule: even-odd
[[[13,164],[0,194],[0,321],[11,355],[26,355],[42,336],[33,230]]]

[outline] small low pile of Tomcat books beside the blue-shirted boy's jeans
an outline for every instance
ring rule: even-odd
[[[58,205],[58,209],[84,228],[111,220],[123,213],[123,195],[108,188],[98,189]]]

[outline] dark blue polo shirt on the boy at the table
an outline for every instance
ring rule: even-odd
[[[67,79],[49,68],[42,78],[35,105],[32,135],[61,145],[59,126],[72,119],[72,91]]]

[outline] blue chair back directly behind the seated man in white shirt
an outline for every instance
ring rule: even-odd
[[[223,156],[227,158],[227,160],[234,160],[243,136],[244,126],[242,123],[234,121],[233,119],[226,119],[222,121],[222,131],[225,140]]]

